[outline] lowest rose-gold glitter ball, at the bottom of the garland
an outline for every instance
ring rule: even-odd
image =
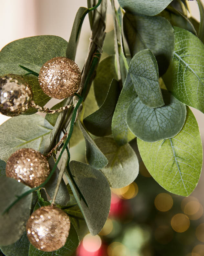
[[[38,250],[55,251],[66,243],[69,235],[68,215],[55,206],[43,206],[31,214],[26,224],[30,243]]]

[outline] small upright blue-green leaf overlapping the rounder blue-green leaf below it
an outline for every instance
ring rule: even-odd
[[[150,108],[164,105],[159,87],[157,61],[149,49],[135,54],[129,64],[129,73],[142,103]]]

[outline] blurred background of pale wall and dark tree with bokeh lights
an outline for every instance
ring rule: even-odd
[[[204,0],[203,0],[204,3]],[[196,1],[189,1],[192,16],[199,21]],[[69,40],[75,14],[86,0],[0,0],[0,49],[7,43],[35,35],[57,35]],[[107,38],[113,20],[107,10]],[[85,18],[76,63],[83,67],[90,28]],[[113,39],[112,39],[113,40]],[[106,47],[108,49],[108,47]],[[102,58],[109,52],[104,51]],[[49,102],[47,106],[54,105]],[[191,108],[192,109],[192,108]],[[203,114],[192,109],[204,140]],[[0,124],[8,117],[0,114]],[[135,148],[135,141],[131,142]],[[72,158],[83,160],[84,142],[72,148]],[[77,256],[202,256],[204,255],[204,172],[188,198],[166,192],[140,162],[138,178],[123,189],[112,190],[111,210],[99,235],[87,234]]]

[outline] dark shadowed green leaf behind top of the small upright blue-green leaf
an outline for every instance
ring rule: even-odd
[[[123,28],[131,56],[141,50],[150,49],[157,59],[159,75],[163,75],[174,50],[174,30],[168,20],[163,17],[125,13]]]

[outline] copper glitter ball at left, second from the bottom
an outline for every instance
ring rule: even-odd
[[[50,173],[49,164],[40,152],[33,148],[15,151],[6,163],[6,176],[34,188],[43,183]]]

